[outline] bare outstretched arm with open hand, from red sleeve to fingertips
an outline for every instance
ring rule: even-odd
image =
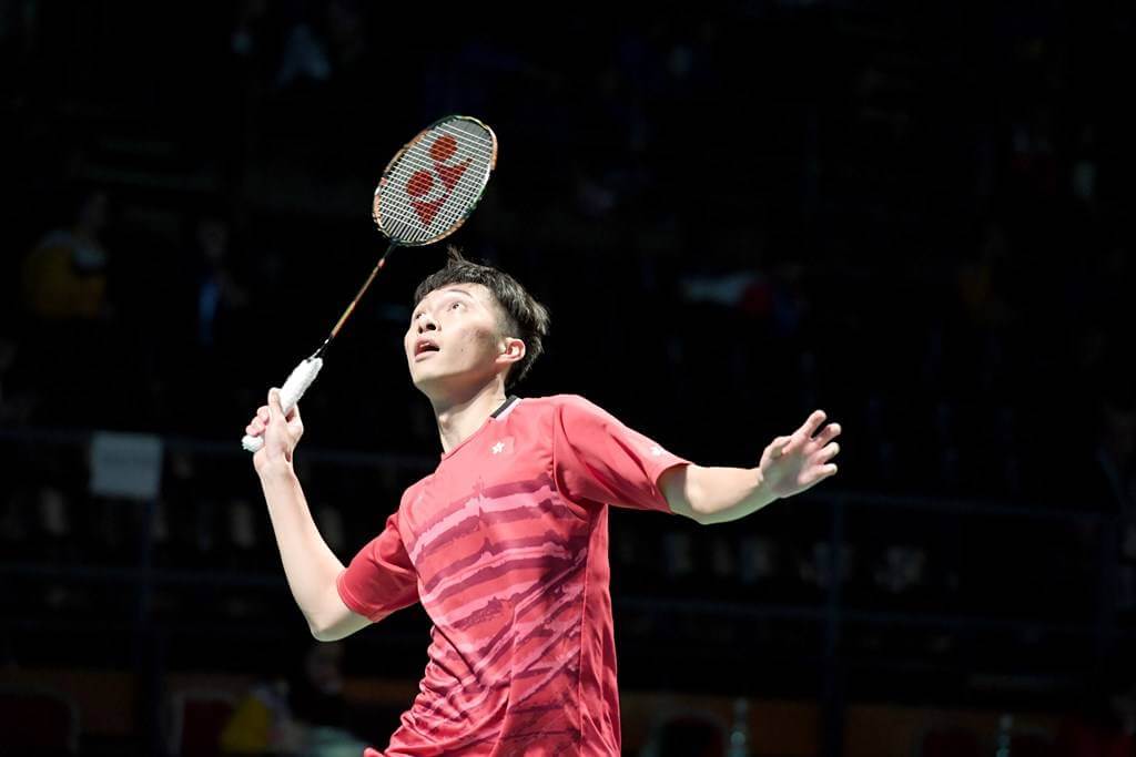
[[[841,427],[829,423],[820,429],[824,422],[825,413],[818,410],[796,431],[774,439],[757,468],[676,465],[659,477],[659,489],[671,512],[699,523],[745,518],[836,473],[836,464],[830,461],[840,452],[833,439]]]

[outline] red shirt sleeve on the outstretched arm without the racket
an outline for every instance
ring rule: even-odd
[[[577,395],[563,395],[556,406],[552,461],[557,486],[573,502],[665,513],[671,510],[659,490],[659,477],[668,468],[690,464]]]

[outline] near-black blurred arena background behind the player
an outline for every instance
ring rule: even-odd
[[[612,514],[625,690],[815,703],[824,754],[858,703],[1119,733],[1133,7],[486,12],[0,3],[0,663],[128,673],[133,732],[82,747],[133,754],[165,748],[173,672],[302,654],[236,441],[382,253],[386,161],[456,112],[500,154],[453,241],[552,313],[518,394],[708,465],[817,407],[844,429],[834,480],[744,521]],[[401,335],[443,262],[395,252],[304,397],[343,560],[436,462]],[[164,439],[159,497],[90,493],[97,430]],[[416,679],[427,628],[358,634],[348,675]]]

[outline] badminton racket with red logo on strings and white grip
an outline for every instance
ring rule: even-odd
[[[496,135],[482,121],[468,116],[448,116],[423,129],[386,165],[375,190],[371,216],[390,245],[324,344],[284,381],[281,407],[285,414],[316,380],[324,367],[327,346],[386,264],[391,252],[395,247],[432,244],[466,222],[496,165]],[[249,452],[257,452],[264,444],[260,436],[245,435],[241,439]]]

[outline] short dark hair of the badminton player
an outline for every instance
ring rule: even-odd
[[[549,310],[504,271],[466,260],[452,244],[446,247],[446,255],[445,268],[427,276],[415,289],[414,306],[434,289],[451,284],[481,284],[487,288],[502,311],[503,318],[499,320],[501,335],[512,336],[525,343],[525,356],[506,373],[504,387],[509,392],[525,378],[533,362],[544,352]]]

